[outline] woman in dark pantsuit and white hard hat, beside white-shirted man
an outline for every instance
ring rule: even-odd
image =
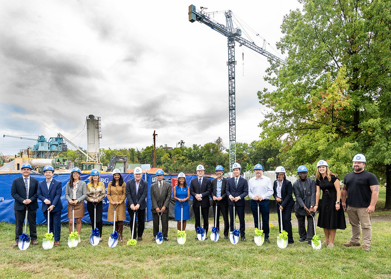
[[[295,201],[293,200],[292,193],[292,183],[286,179],[285,168],[279,166],[276,168],[276,180],[273,184],[273,197],[276,199],[277,208],[281,209],[282,212],[282,228],[281,228],[281,217],[278,213],[278,225],[280,232],[284,230],[288,233],[288,244],[293,244],[293,235],[292,235],[292,223],[291,223],[291,213]]]

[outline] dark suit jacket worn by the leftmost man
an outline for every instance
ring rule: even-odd
[[[30,186],[28,190],[28,198],[31,200],[31,203],[28,207],[28,210],[37,210],[38,209],[38,180],[30,176]],[[23,176],[14,179],[11,186],[11,196],[15,199],[14,209],[23,210],[25,206],[23,201],[27,199],[27,192],[24,186]]]

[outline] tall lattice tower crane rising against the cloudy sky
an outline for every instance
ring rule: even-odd
[[[201,7],[202,9],[202,7]],[[236,107],[235,107],[235,42],[242,46],[262,54],[269,60],[283,63],[284,61],[276,55],[266,51],[264,48],[257,46],[241,37],[240,28],[234,28],[232,23],[232,12],[227,10],[224,12],[226,19],[226,26],[211,19],[207,13],[196,10],[194,5],[189,6],[189,21],[200,22],[208,25],[218,33],[228,38],[228,114],[229,114],[229,168],[232,172],[232,164],[236,162]]]

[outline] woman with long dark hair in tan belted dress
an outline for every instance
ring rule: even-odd
[[[123,220],[126,220],[126,183],[118,168],[114,169],[112,174],[113,179],[109,182],[107,187],[107,199],[109,200],[107,220],[109,222],[114,222],[114,207],[117,207],[115,212],[115,230],[118,232],[118,241],[122,242],[122,230],[124,228]]]

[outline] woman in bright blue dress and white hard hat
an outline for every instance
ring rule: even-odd
[[[186,183],[186,175],[181,172],[178,174],[178,183],[177,186],[173,189],[173,197],[175,200],[175,220],[177,220],[176,227],[178,231],[184,231],[186,229],[186,220],[190,219],[190,188]],[[181,228],[180,215],[181,215],[181,205],[183,205],[183,227]]]

